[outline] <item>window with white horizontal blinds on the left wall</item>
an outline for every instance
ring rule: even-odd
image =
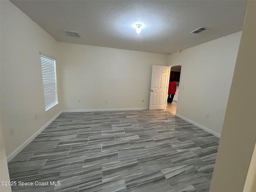
[[[40,57],[44,87],[44,105],[47,111],[58,104],[56,61],[43,55],[40,55]]]

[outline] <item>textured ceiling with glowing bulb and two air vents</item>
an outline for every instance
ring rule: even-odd
[[[247,0],[11,2],[57,41],[162,54],[241,31],[247,6]],[[209,29],[190,33],[200,26]],[[80,32],[82,38],[62,30]]]

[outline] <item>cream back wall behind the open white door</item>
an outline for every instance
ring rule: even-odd
[[[58,48],[64,110],[148,108],[152,65],[167,65],[164,54],[63,42]]]

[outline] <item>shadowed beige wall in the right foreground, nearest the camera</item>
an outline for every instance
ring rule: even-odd
[[[256,143],[255,72],[256,1],[248,1],[210,192],[244,189]]]

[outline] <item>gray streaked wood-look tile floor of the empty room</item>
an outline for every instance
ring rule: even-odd
[[[33,184],[12,191],[208,192],[218,142],[165,110],[62,113],[8,163]]]

